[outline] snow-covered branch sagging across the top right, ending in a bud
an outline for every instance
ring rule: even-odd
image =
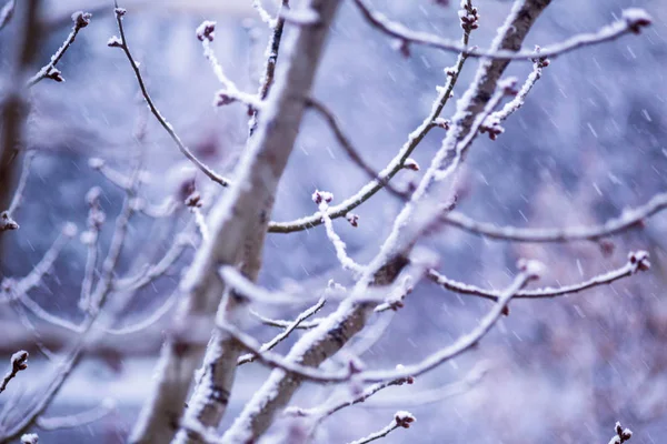
[[[442,39],[428,32],[412,31],[404,24],[388,20],[384,14],[372,11],[364,0],[352,0],[364,19],[381,32],[398,39],[404,44],[422,44],[444,51],[462,52],[468,57],[498,59],[498,60],[531,60],[537,54],[534,51],[510,51],[501,49],[478,49],[460,44],[456,41]],[[621,19],[597,32],[581,33],[560,42],[545,47],[540,51],[542,57],[556,57],[570,52],[578,48],[599,44],[616,40],[628,33],[639,33],[643,28],[651,23],[650,16],[641,9],[626,9],[623,11]]]

